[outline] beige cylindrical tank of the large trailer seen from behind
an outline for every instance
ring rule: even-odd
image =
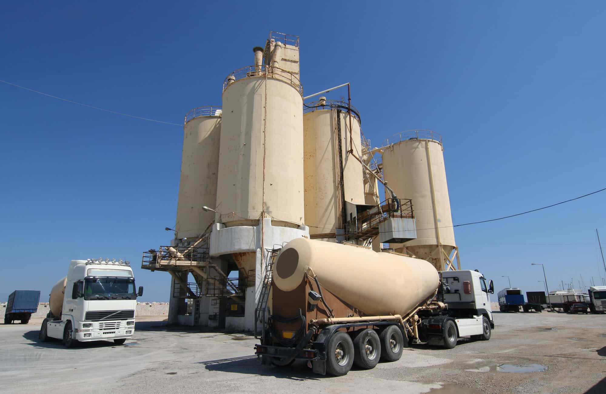
[[[273,283],[284,292],[298,288],[305,274],[364,315],[407,315],[432,298],[439,285],[431,263],[390,252],[298,238],[282,249]]]

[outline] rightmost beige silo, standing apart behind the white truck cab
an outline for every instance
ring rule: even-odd
[[[402,250],[444,270],[456,249],[441,136],[430,130],[396,134],[382,150],[383,175],[398,197],[412,199],[417,238]],[[402,244],[394,245],[396,251]]]

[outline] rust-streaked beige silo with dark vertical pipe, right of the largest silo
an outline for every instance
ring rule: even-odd
[[[346,203],[365,203],[362,164],[353,156],[362,153],[360,119],[353,108],[350,122],[347,108],[347,103],[321,97],[305,104],[303,114],[305,223],[310,234],[326,238],[344,229]]]

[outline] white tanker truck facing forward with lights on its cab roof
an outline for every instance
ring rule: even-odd
[[[128,261],[72,260],[67,277],[50,292],[47,318],[39,338],[63,340],[65,347],[79,342],[113,340],[123,344],[135,333],[135,308],[143,287],[135,292]]]

